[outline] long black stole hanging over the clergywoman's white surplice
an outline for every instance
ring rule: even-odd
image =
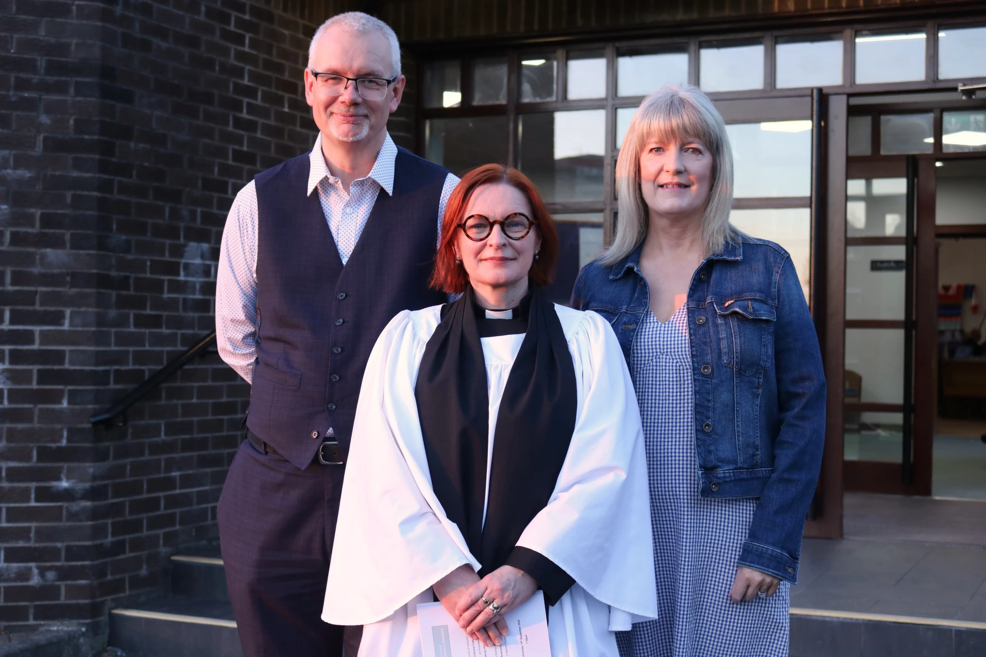
[[[575,366],[554,305],[532,290],[528,332],[497,416],[486,496],[489,396],[471,287],[425,347],[414,395],[432,488],[458,525],[480,576],[506,562],[547,504],[575,430]]]

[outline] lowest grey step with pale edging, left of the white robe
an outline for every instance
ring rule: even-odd
[[[173,597],[109,613],[109,645],[127,657],[243,657],[229,602]]]

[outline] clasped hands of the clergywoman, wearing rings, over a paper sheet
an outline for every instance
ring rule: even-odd
[[[504,614],[526,603],[537,591],[537,582],[524,570],[503,565],[479,578],[468,564],[458,566],[435,582],[435,595],[456,619],[465,633],[483,645],[500,645],[510,630]],[[493,614],[483,598],[496,602],[500,613]]]

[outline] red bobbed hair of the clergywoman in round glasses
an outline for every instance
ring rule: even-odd
[[[469,284],[469,276],[461,263],[456,262],[455,243],[458,238],[458,224],[465,219],[465,207],[477,187],[489,184],[510,185],[519,189],[530,204],[536,222],[531,232],[537,231],[541,238],[541,248],[538,257],[530,266],[530,281],[536,286],[546,286],[554,277],[558,265],[558,230],[554,220],[544,207],[541,195],[530,178],[516,168],[503,164],[483,164],[466,171],[462,180],[456,186],[449,202],[445,206],[445,217],[442,219],[442,239],[435,255],[435,271],[432,272],[431,287],[451,294],[465,292]],[[491,217],[491,219],[503,219]],[[529,236],[529,235],[528,235]]]

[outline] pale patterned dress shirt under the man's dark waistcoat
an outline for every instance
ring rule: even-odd
[[[321,134],[309,156],[308,194],[318,192],[321,211],[345,265],[356,248],[367,219],[383,189],[393,193],[393,165],[397,147],[387,133],[370,175],[353,180],[346,194],[339,178],[333,176],[321,154]],[[438,233],[442,230],[445,206],[458,184],[450,173],[445,179],[438,208]],[[256,187],[252,180],[240,190],[223,230],[216,276],[216,343],[219,355],[231,367],[252,382],[256,359]],[[436,237],[437,239],[437,237]]]

